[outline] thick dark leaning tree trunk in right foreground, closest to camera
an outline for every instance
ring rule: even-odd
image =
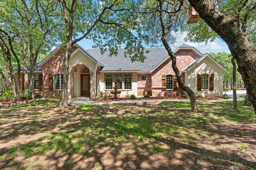
[[[256,114],[256,48],[246,34],[238,28],[234,20],[219,12],[210,0],[189,0],[200,17],[227,43],[228,48],[238,64]]]

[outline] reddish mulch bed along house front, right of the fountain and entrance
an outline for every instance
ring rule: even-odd
[[[150,97],[150,98],[145,98],[145,97],[137,97],[135,99],[131,98],[107,98],[106,100],[103,100],[102,98],[98,98],[95,101],[102,102],[102,101],[124,101],[124,100],[189,100],[189,98],[182,98],[180,96],[172,96],[172,97]],[[205,97],[205,98],[196,98],[196,100],[222,100],[223,98],[210,98],[210,97]]]

